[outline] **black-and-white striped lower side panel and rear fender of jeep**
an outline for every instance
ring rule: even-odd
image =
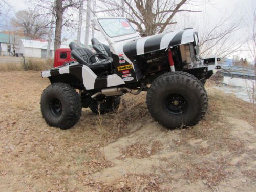
[[[60,74],[72,74],[83,82],[84,88],[87,90],[106,88],[125,84],[121,77],[116,74],[98,77],[89,67],[78,63],[67,66],[53,68],[41,73],[42,77],[51,77]]]

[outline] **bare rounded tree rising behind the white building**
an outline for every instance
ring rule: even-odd
[[[40,39],[47,34],[49,22],[38,16],[35,10],[22,10],[11,19],[11,24],[22,30],[24,35],[30,39]]]

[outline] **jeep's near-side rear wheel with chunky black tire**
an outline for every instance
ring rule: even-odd
[[[48,86],[42,92],[40,104],[42,117],[47,124],[60,129],[74,126],[82,112],[78,93],[66,83],[54,83]]]

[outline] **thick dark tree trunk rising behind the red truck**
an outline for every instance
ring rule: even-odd
[[[54,50],[60,48],[61,45],[61,31],[62,31],[62,22],[63,22],[63,5],[62,0],[56,0],[56,28],[55,28],[55,41],[54,41]]]

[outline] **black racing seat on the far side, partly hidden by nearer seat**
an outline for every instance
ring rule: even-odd
[[[104,55],[99,55],[99,58],[101,58],[101,59],[110,59],[113,62],[111,51],[110,51],[110,48],[109,48],[108,45],[101,44],[101,42],[99,42],[98,39],[96,39],[96,38],[92,38],[91,42],[92,42],[92,45],[93,45],[93,49],[97,53],[103,53],[104,54]],[[105,55],[107,55],[108,58],[106,58]]]

